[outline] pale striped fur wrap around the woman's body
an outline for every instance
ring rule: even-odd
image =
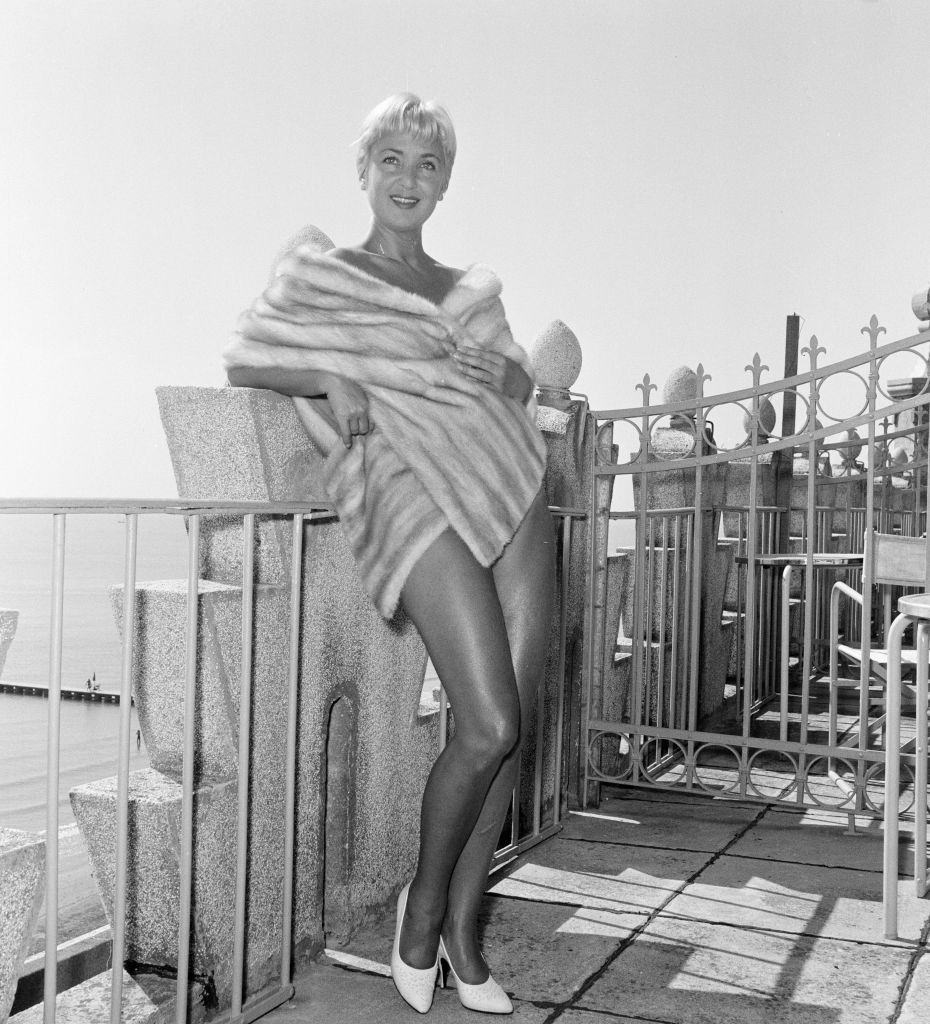
[[[346,449],[325,399],[295,398],[324,453],[324,484],[378,610],[390,617],[410,569],[448,527],[482,565],[500,556],[542,485],[546,451],[526,407],[468,380],[459,345],[491,349],[531,378],[488,268],[439,305],[300,246],[240,317],[227,370],[277,367],[347,377],[372,431]]]

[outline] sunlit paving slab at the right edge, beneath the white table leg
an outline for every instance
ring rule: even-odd
[[[722,856],[675,896],[664,914],[817,935],[853,942],[887,942],[882,876],[841,867]],[[917,942],[930,918],[930,901],[918,899],[913,882],[898,883],[898,934]]]

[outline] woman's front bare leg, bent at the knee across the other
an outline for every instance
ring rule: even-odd
[[[401,932],[401,959],[423,969],[435,961],[456,863],[492,781],[517,743],[520,702],[494,573],[456,534],[447,530],[418,560],[403,602],[449,694],[456,724],[423,795],[420,856]]]

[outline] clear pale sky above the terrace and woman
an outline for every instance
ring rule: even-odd
[[[351,145],[403,89],[459,156],[424,243],[595,409],[785,322],[821,361],[930,285],[926,0],[3,0],[0,496],[170,498],[154,389],[220,352],[305,224],[357,244]]]

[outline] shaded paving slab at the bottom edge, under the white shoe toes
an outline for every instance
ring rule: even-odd
[[[389,978],[313,964],[295,979],[290,1002],[262,1017],[264,1024],[410,1024],[420,1019],[397,994]],[[550,1010],[519,1000],[513,1016],[518,1024],[542,1024]],[[474,1024],[475,1014],[459,1002],[453,989],[437,989],[429,1011],[431,1024]]]

